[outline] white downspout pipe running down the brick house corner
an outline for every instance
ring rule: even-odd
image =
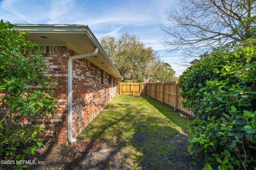
[[[76,139],[73,137],[72,131],[72,63],[76,59],[85,59],[98,53],[98,48],[94,48],[92,53],[75,55],[68,59],[68,141],[74,143]]]

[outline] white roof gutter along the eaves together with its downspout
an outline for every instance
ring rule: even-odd
[[[100,42],[98,41],[98,39],[96,39],[95,35],[92,33],[92,31],[87,25],[16,24],[16,26],[14,26],[14,28],[12,29],[18,29],[21,32],[26,30],[30,33],[35,33],[35,34],[57,33],[57,34],[88,35],[89,39],[93,43],[92,46],[98,47],[98,48],[94,48],[94,51],[92,53],[76,55],[68,59],[68,141],[70,143],[74,143],[76,139],[74,139],[73,133],[72,133],[72,61],[74,61],[75,59],[84,59],[90,56],[95,56],[98,53],[98,51],[100,51],[102,55],[105,57],[105,59],[109,62],[109,64],[111,64],[112,68],[117,74],[116,78],[122,78],[121,74],[118,72],[117,68],[114,66],[112,61],[110,61],[110,58],[108,57],[108,55],[106,54],[102,46],[100,45]],[[65,41],[63,39],[60,39],[60,40]],[[106,71],[106,72],[111,74],[109,71]]]

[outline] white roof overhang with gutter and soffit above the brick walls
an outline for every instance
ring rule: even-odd
[[[95,57],[88,57],[90,62],[116,78],[122,78],[99,41],[87,25],[44,25],[16,24],[13,29],[28,31],[27,40],[39,46],[66,46],[79,55],[92,53],[98,48]]]

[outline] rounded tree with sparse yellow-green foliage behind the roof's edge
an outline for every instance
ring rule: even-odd
[[[134,76],[140,80],[146,77],[150,72],[149,64],[158,57],[151,47],[145,47],[138,37],[128,33],[117,40],[103,37],[101,45],[123,77],[121,82],[133,80]]]

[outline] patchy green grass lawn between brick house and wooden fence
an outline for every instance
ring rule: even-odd
[[[163,169],[172,164],[175,151],[169,139],[188,129],[190,120],[172,109],[142,96],[116,96],[79,135],[80,140],[99,139],[120,147],[122,161],[135,169]],[[186,161],[186,160],[184,160]]]

